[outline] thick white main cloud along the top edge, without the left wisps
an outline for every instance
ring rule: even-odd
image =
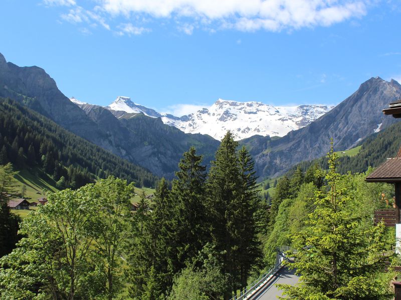
[[[329,26],[366,13],[367,0],[99,0],[112,15],[205,18],[242,31]],[[219,25],[218,24],[218,25]]]

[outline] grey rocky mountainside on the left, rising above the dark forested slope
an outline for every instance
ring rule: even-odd
[[[19,67],[6,62],[1,54],[0,96],[24,103],[67,130],[133,163],[149,166],[153,173],[166,176],[168,179],[173,177],[179,158],[191,145],[205,144],[203,147],[205,151],[199,152],[211,157],[210,153],[214,153],[218,144],[218,141],[210,136],[185,134],[181,131],[174,135],[162,136],[164,132],[170,130],[170,127],[164,124],[157,127],[158,131],[145,128],[146,130],[134,132],[104,107],[77,102],[76,99],[74,102],[70,101],[42,68]],[[163,126],[168,128],[162,130]],[[154,136],[152,139],[154,144],[151,146],[157,149],[156,152],[148,151],[147,135]],[[160,144],[161,141],[166,144]],[[173,146],[174,143],[177,146]],[[148,156],[144,153],[148,153]],[[154,164],[150,165],[149,159]],[[209,162],[209,158],[205,159],[206,164]]]

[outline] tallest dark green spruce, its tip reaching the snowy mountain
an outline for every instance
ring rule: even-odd
[[[253,208],[249,209],[253,207],[253,174],[250,169],[253,166],[246,151],[240,154],[240,162],[237,146],[238,142],[228,131],[216,152],[216,159],[212,162],[207,184],[207,209],[212,241],[216,249],[224,253],[223,273],[228,276],[225,299],[229,299],[233,291],[242,287],[253,262],[241,261],[244,251],[250,250],[247,247],[249,239],[244,235],[254,236]],[[247,203],[249,197],[251,204]],[[252,225],[245,225],[248,221]]]

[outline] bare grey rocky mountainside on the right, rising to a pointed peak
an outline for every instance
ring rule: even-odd
[[[401,85],[395,80],[370,78],[351,96],[309,125],[271,139],[253,136],[242,140],[253,155],[259,175],[275,176],[292,165],[325,155],[330,137],[336,149],[348,149],[365,137],[397,120],[386,117],[381,109],[401,98]]]

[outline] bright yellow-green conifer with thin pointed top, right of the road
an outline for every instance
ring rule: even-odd
[[[301,274],[295,286],[282,285],[287,299],[387,299],[388,284],[379,280],[386,250],[383,224],[361,226],[349,209],[352,197],[338,188],[337,154],[328,153],[328,192],[318,192],[308,227],[293,236],[298,252],[290,267]]]

